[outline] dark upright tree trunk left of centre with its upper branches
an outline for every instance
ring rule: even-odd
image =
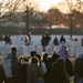
[[[30,28],[29,28],[29,24],[30,24],[30,21],[32,19],[32,15],[33,15],[33,11],[34,10],[38,10],[38,3],[39,1],[37,2],[37,0],[23,0],[24,4],[25,4],[25,27],[28,29],[28,33],[30,32]],[[34,12],[35,13],[35,12]]]

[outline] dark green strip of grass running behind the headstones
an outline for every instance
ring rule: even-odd
[[[50,34],[70,34],[70,29],[31,29],[30,32],[32,34],[44,34],[45,32]],[[27,34],[28,30],[25,28],[1,28],[0,34]],[[73,29],[72,34],[83,34],[83,29]]]

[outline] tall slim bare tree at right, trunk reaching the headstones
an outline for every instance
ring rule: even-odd
[[[73,0],[66,0],[66,3],[68,3],[68,8],[69,8],[70,39],[72,39],[73,19],[75,19],[74,18],[75,15],[73,15],[73,11],[74,10],[77,10],[77,11],[81,10],[82,1],[81,0],[76,0],[76,3],[74,4]]]

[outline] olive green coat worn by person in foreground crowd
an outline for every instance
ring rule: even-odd
[[[42,75],[43,75],[43,71],[41,70],[41,68],[35,63],[31,63],[28,66],[27,83],[38,83],[38,79]]]

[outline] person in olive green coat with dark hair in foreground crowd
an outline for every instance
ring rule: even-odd
[[[28,77],[27,83],[39,83],[39,77],[42,76],[44,72],[39,65],[39,59],[33,56],[31,63],[28,66]]]

